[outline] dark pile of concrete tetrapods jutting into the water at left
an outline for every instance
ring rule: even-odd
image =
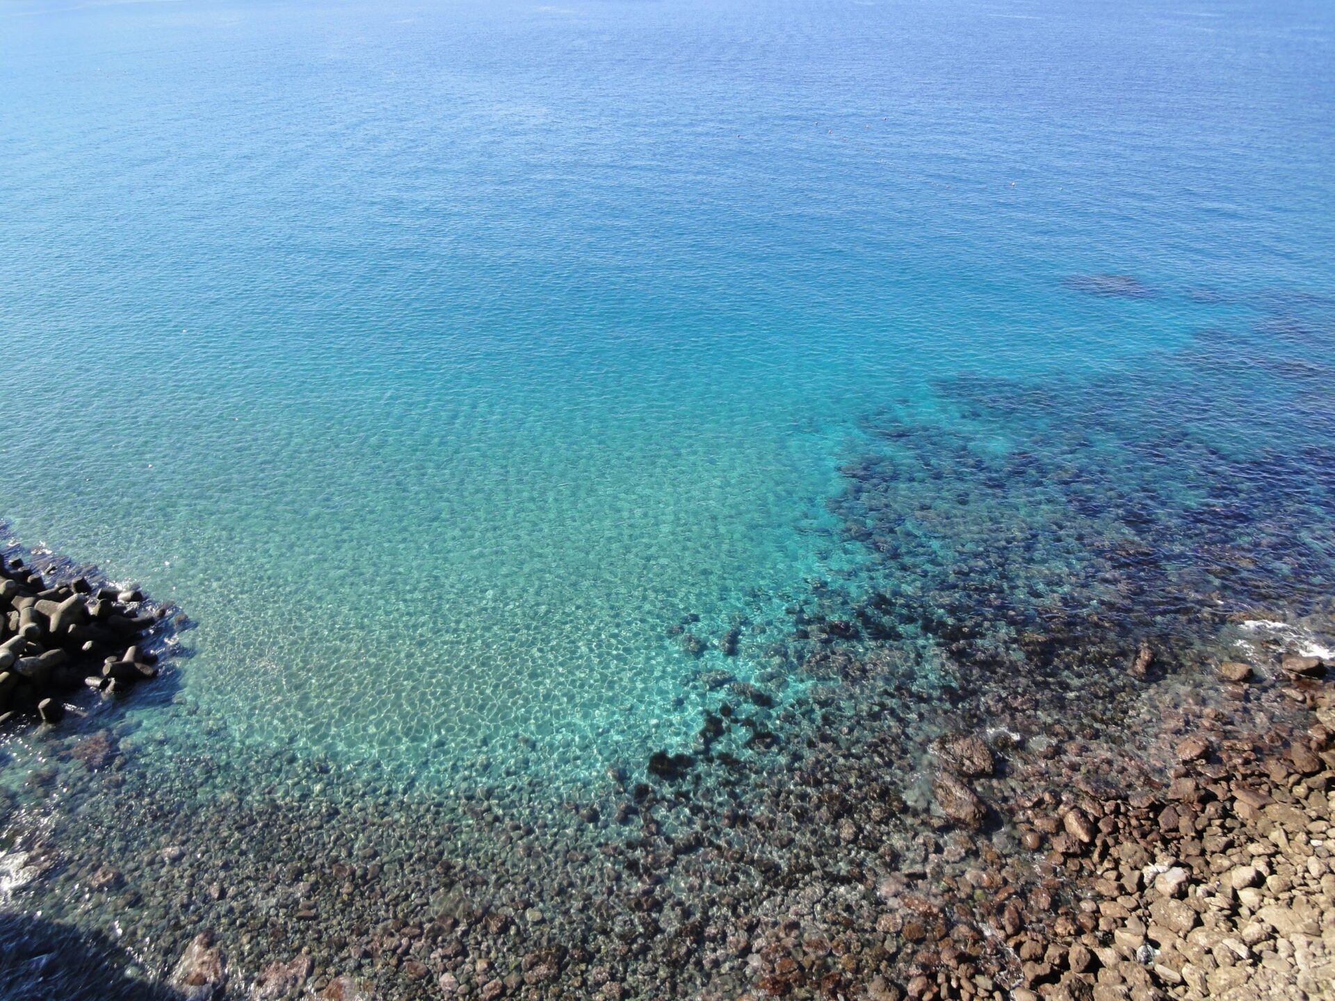
[[[113,694],[158,677],[146,643],[167,614],[138,590],[48,582],[23,557],[0,559],[0,723],[56,723],[80,686]]]

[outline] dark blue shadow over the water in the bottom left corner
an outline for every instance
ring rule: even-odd
[[[3,1001],[180,1001],[164,985],[125,973],[124,952],[107,937],[29,914],[0,913]]]

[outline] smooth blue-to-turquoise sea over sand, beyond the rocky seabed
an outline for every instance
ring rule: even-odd
[[[1332,444],[1328,312],[1248,382],[1332,287],[1322,5],[0,13],[0,511],[188,609],[148,733],[429,782],[682,745],[684,679],[856,587],[870,415],[968,432],[961,376]]]

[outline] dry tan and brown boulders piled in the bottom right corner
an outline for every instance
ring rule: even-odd
[[[1310,726],[1263,753],[1192,735],[1167,786],[1016,811],[1075,902],[1032,930],[1011,917],[1017,1001],[1330,996],[1335,695],[1290,694]]]

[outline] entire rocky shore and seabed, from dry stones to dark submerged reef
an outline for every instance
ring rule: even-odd
[[[1320,996],[1335,719],[1284,658],[1335,633],[1332,415],[1275,351],[1328,323],[1255,334],[1177,360],[1282,383],[1231,396],[1256,442],[1153,374],[872,415],[858,563],[668,629],[686,746],[558,787],[517,737],[427,789],[182,701],[167,745],[47,745],[11,906],[194,998]]]

